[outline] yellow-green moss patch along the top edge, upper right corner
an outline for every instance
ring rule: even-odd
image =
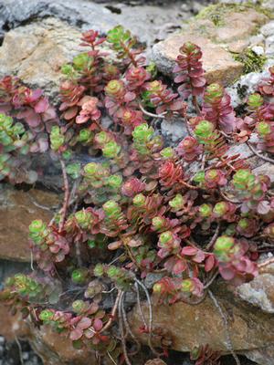
[[[262,8],[260,4],[254,5],[252,2],[247,4],[216,4],[206,6],[196,17],[196,19],[210,19],[215,26],[224,26],[226,17],[230,13],[242,13],[248,9],[254,9],[258,13],[264,14],[269,18],[273,18],[273,11]]]

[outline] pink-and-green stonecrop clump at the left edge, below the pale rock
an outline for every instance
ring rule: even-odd
[[[57,122],[41,89],[26,88],[10,76],[0,80],[0,180],[37,180],[29,157],[48,150],[48,132]]]

